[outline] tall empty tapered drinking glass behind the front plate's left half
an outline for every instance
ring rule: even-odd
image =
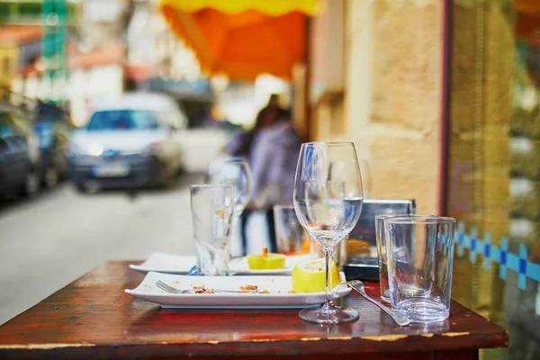
[[[227,275],[234,186],[192,185],[190,190],[197,274]]]

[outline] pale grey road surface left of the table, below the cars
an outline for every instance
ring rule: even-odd
[[[103,261],[194,254],[189,184],[166,191],[76,193],[69,184],[0,208],[0,324]]]

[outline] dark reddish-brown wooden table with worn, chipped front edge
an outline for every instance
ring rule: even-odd
[[[339,325],[298,311],[164,311],[123,292],[142,277],[128,262],[103,264],[0,327],[0,358],[476,359],[509,341],[457,302],[445,322],[400,328],[356,293],[346,303],[360,319]],[[366,290],[378,298],[378,284]]]

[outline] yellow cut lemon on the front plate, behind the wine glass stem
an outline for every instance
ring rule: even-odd
[[[324,258],[304,260],[293,268],[293,291],[295,293],[319,293],[325,291]],[[330,264],[329,287],[341,282],[338,266]]]

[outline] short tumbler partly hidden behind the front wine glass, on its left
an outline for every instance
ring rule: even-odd
[[[312,254],[313,244],[296,218],[294,205],[274,205],[277,252],[284,255]]]

